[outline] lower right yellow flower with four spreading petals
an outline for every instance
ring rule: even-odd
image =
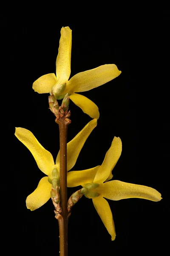
[[[108,181],[113,177],[111,171],[119,160],[121,152],[122,142],[119,137],[114,137],[101,166],[83,171],[68,172],[68,187],[79,185],[83,187],[82,193],[87,198],[92,198],[94,207],[112,240],[115,239],[116,233],[112,212],[105,198],[110,200],[143,198],[155,202],[161,200],[161,194],[151,187],[119,180]]]

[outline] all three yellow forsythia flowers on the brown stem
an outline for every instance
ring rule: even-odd
[[[91,90],[102,84],[111,81],[120,75],[115,64],[105,64],[92,70],[80,72],[73,76],[71,74],[71,29],[63,27],[59,41],[59,51],[56,61],[56,74],[50,73],[41,76],[33,84],[33,89],[38,93],[50,93],[55,99],[63,99],[68,93],[69,98],[93,118],[80,131],[73,140],[67,144],[67,170],[70,171],[79,153],[97,125],[99,118],[98,107],[90,99],[79,94],[79,92]],[[51,183],[55,175],[56,182],[59,181],[59,153],[54,163],[51,153],[38,142],[31,131],[24,128],[16,128],[16,137],[31,151],[37,162],[39,169],[45,173],[37,189],[28,195],[26,206],[28,209],[35,210],[45,204],[51,197]],[[105,155],[101,166],[82,171],[68,172],[68,187],[81,185],[81,193],[86,198],[91,198],[102,222],[111,235],[111,239],[116,237],[113,216],[108,201],[121,200],[125,198],[144,198],[151,201],[160,201],[161,194],[148,186],[125,183],[119,180],[111,180],[112,170],[122,152],[122,142],[120,138],[114,137],[111,147]],[[109,181],[110,180],[110,181]]]

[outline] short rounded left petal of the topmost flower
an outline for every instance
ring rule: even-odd
[[[34,81],[32,88],[37,93],[49,93],[51,87],[57,83],[57,79],[54,73],[50,73],[41,76],[36,81]]]

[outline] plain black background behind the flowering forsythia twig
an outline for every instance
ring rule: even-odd
[[[14,130],[30,130],[54,159],[57,156],[59,130],[48,109],[48,94],[35,93],[32,83],[44,74],[55,73],[62,26],[72,29],[71,77],[102,64],[114,63],[122,71],[107,84],[81,93],[96,103],[100,118],[73,169],[101,164],[113,137],[120,137],[122,155],[113,170],[113,179],[151,186],[163,198],[160,202],[108,200],[116,227],[116,240],[111,241],[92,201],[83,197],[69,220],[68,255],[164,255],[169,248],[170,228],[170,12],[166,8],[148,11],[144,6],[128,10],[125,6],[123,10],[100,6],[94,11],[77,6],[78,11],[72,12],[68,6],[66,13],[65,5],[56,9],[44,6],[43,11],[28,11],[20,6],[21,12],[12,12],[11,8],[10,13],[3,14],[6,45],[2,52],[8,72],[3,92],[3,255],[59,255],[58,224],[52,202],[49,200],[34,212],[26,208],[26,197],[44,174],[14,136]],[[70,110],[68,141],[91,120],[73,102]],[[77,189],[68,188],[68,196]]]

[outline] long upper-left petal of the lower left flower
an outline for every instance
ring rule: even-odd
[[[46,175],[49,175],[54,167],[54,160],[51,153],[43,148],[31,131],[27,129],[16,127],[15,136],[32,153],[40,170]]]

